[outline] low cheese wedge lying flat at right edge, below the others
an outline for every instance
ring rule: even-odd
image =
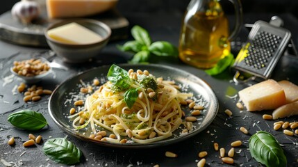
[[[274,120],[295,115],[298,115],[298,101],[280,106],[272,113],[272,117]]]

